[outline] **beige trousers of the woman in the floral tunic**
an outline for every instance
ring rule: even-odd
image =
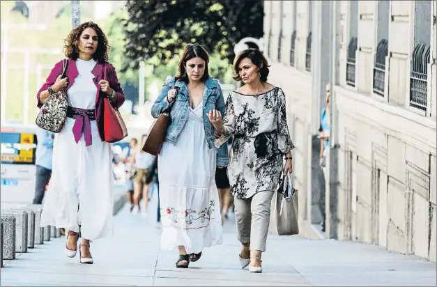
[[[257,192],[250,199],[234,199],[238,240],[250,250],[266,251],[273,192]]]

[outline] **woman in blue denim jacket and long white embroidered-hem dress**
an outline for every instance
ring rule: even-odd
[[[214,147],[208,111],[224,111],[220,84],[208,73],[208,52],[198,44],[183,50],[178,75],[164,83],[152,107],[158,118],[169,104],[171,125],[158,157],[163,249],[178,247],[176,267],[198,261],[204,247],[222,243],[216,166],[227,165],[226,147]]]

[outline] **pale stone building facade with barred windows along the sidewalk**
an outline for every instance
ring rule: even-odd
[[[436,1],[265,1],[269,82],[287,95],[302,233],[436,261]],[[331,86],[329,183],[319,139]],[[324,188],[325,187],[325,188]]]

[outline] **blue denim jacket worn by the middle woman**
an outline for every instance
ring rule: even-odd
[[[167,134],[165,136],[164,141],[169,141],[170,143],[176,144],[179,134],[181,130],[185,126],[188,118],[188,109],[190,107],[189,95],[187,84],[181,80],[177,80],[175,84],[175,79],[172,77],[164,82],[164,86],[162,86],[161,93],[156,99],[155,103],[152,107],[152,116],[153,118],[158,118],[162,111],[169,106],[169,102],[167,101],[167,93],[169,90],[174,88],[174,86],[179,88],[178,95],[176,95],[173,107],[171,108],[170,118],[171,123],[167,130]],[[208,113],[210,110],[217,109],[224,115],[224,98],[222,94],[222,88],[220,88],[220,84],[218,84],[212,78],[208,78],[205,81],[206,93],[204,94],[204,100],[202,101],[203,107],[203,117],[204,117],[204,127],[205,127],[205,137],[208,141],[209,148],[215,148],[214,139],[215,139],[215,129],[213,125],[210,123]],[[224,144],[217,149],[217,166],[227,166],[228,165],[228,149],[227,145]]]

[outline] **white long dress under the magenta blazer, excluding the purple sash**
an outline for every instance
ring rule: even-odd
[[[79,75],[68,89],[71,107],[95,109],[97,88],[91,73],[94,60],[76,60]],[[72,133],[75,119],[67,118],[63,130],[55,135],[53,170],[45,196],[41,226],[56,226],[79,232],[82,238],[109,237],[112,229],[114,178],[111,146],[100,140],[97,124],[91,121],[92,144],[84,135],[78,143]]]

